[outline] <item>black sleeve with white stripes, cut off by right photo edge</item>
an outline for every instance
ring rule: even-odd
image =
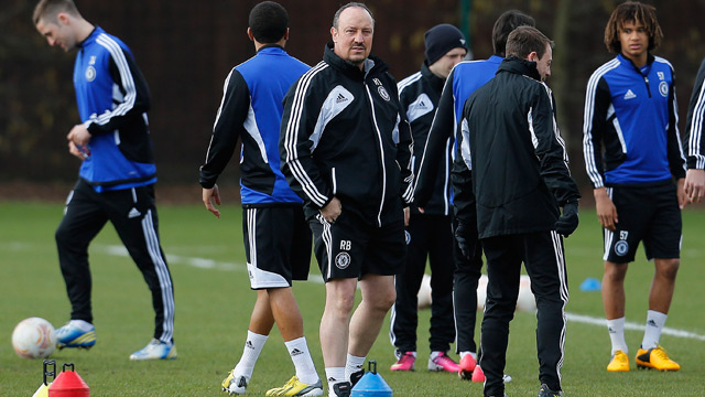
[[[688,170],[705,169],[705,60],[701,63],[697,71],[695,84],[693,85],[693,94],[691,95],[691,104],[687,107],[687,118],[685,122],[685,155],[687,155]]]

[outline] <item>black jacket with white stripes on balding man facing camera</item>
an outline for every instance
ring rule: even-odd
[[[370,225],[403,219],[402,206],[413,201],[413,138],[387,69],[369,56],[362,72],[328,43],[323,61],[286,93],[282,171],[307,217],[336,196],[343,212]]]

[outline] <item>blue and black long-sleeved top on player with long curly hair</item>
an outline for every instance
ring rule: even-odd
[[[587,83],[583,151],[595,189],[685,175],[673,66],[649,55],[641,68],[621,54]]]

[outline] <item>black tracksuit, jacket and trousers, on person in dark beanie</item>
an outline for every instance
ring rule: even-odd
[[[423,155],[429,129],[437,109],[444,79],[434,75],[427,62],[421,71],[399,82],[399,100],[411,125],[414,137],[412,164],[414,174]],[[406,226],[406,266],[397,275],[397,301],[392,308],[390,340],[401,353],[416,351],[417,299],[416,294],[426,268],[431,264],[431,336],[432,352],[447,352],[455,339],[453,318],[453,230],[451,227],[451,150],[446,139],[445,155],[434,178],[434,194],[421,214],[411,205],[411,218]]]

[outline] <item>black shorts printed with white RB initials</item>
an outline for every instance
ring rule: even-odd
[[[333,224],[321,214],[308,223],[321,275],[326,282],[365,275],[393,276],[404,267],[403,221],[376,227],[354,212],[343,210]]]

